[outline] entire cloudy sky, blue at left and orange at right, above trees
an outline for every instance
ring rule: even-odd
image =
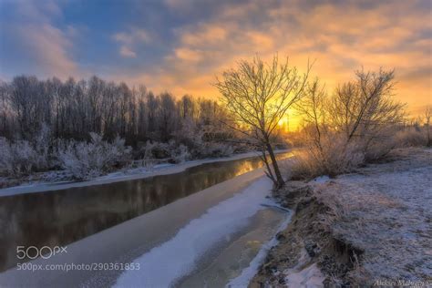
[[[329,91],[396,69],[396,99],[432,105],[432,1],[0,0],[0,79],[86,78],[217,98],[240,59],[275,53]]]

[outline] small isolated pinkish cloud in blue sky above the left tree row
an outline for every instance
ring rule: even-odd
[[[134,46],[141,43],[149,43],[150,36],[144,29],[137,27],[130,28],[128,32],[119,32],[112,36],[112,38],[120,43],[118,53],[121,57],[137,57],[134,51]]]

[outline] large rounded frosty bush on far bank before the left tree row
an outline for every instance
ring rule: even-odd
[[[129,147],[125,140],[116,137],[112,142],[104,141],[97,133],[90,133],[90,142],[69,141],[59,149],[58,159],[62,168],[77,180],[87,180],[119,168],[129,162]]]

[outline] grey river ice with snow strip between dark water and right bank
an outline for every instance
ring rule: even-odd
[[[252,170],[67,244],[67,253],[28,262],[42,268],[129,263],[139,271],[32,272],[9,265],[0,273],[0,286],[222,287],[248,271],[262,245],[289,221],[285,211],[273,208],[271,189],[262,168]],[[6,252],[9,259],[16,259],[14,249],[6,249],[5,256]]]

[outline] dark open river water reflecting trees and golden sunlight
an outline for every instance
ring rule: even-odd
[[[261,166],[258,158],[222,161],[141,180],[0,197],[0,271],[15,265],[16,246],[76,242]]]

